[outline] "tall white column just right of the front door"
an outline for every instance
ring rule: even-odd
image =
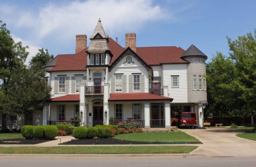
[[[103,99],[103,123],[104,125],[109,124],[109,107],[108,107],[108,98],[109,98],[109,83],[104,84],[104,99]]]

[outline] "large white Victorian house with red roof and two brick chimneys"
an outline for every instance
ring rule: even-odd
[[[86,35],[77,35],[75,54],[60,54],[46,65],[52,98],[34,120],[46,125],[79,115],[82,125],[108,124],[111,118],[170,128],[171,111],[183,107],[194,111],[203,127],[207,56],[193,45],[186,51],[137,47],[136,34],[125,38],[122,47],[105,34],[100,20],[89,46]]]

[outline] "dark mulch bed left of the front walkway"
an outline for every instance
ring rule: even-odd
[[[26,140],[26,139],[8,139],[0,140],[0,144],[40,144],[51,140]]]

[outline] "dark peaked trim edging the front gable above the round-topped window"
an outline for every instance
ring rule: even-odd
[[[123,51],[123,53],[121,53],[115,62],[112,63],[109,71],[111,71],[117,65],[117,63],[123,59],[123,57],[128,55],[132,55],[134,58],[136,58],[147,70],[152,70],[152,68],[146,62],[144,62],[144,60],[142,60],[133,50],[131,50],[131,48],[128,47],[125,51]]]

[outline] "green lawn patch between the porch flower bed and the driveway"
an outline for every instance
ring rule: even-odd
[[[116,135],[118,140],[128,140],[135,142],[186,142],[186,143],[201,143],[195,137],[188,135],[182,131],[171,132],[143,132],[143,133],[128,133]]]

